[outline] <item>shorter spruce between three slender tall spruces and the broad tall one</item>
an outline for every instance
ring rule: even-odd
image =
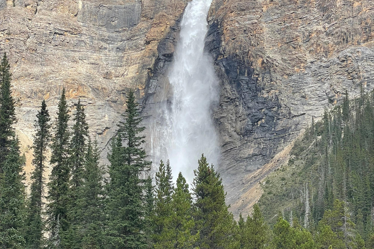
[[[87,144],[82,168],[82,181],[76,187],[75,205],[69,214],[72,225],[67,233],[71,249],[101,249],[104,241],[104,186],[103,169],[99,165],[97,142]]]

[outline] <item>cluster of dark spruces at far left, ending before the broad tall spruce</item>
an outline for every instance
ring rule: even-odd
[[[106,248],[104,171],[98,146],[88,136],[84,107],[78,101],[71,130],[63,89],[51,132],[50,115],[42,101],[32,146],[35,168],[26,196],[25,160],[13,128],[17,119],[6,54],[1,59],[0,83],[0,248]],[[46,184],[49,150],[52,172]]]

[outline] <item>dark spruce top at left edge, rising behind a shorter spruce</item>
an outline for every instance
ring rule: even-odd
[[[12,125],[16,123],[16,113],[11,89],[10,65],[6,53],[0,64],[0,173],[5,156],[11,150],[14,130]]]

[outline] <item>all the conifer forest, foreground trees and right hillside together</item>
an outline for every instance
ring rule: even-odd
[[[0,249],[374,249],[373,92],[352,101],[347,95],[312,122],[288,164],[262,182],[260,205],[235,221],[204,155],[191,186],[181,173],[172,179],[168,160],[154,181],[145,177],[151,162],[131,90],[106,167],[80,101],[71,112],[63,90],[52,120],[41,100],[26,193],[9,70],[4,54]]]

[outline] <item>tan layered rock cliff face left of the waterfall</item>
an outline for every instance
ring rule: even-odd
[[[138,97],[145,96],[154,67],[160,67],[158,48],[175,35],[186,4],[186,0],[0,0],[0,54],[7,52],[11,62],[16,128],[27,165],[32,154],[27,145],[32,144],[40,102],[46,99],[54,116],[62,88],[72,109],[81,99],[93,136],[106,148],[124,110],[126,90],[139,89]]]

